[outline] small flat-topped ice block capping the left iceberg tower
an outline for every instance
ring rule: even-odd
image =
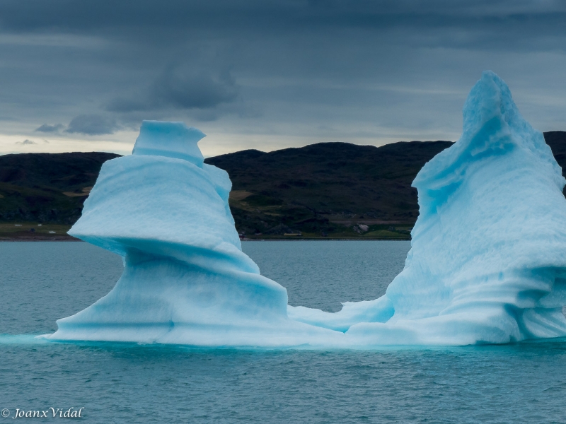
[[[205,136],[184,122],[144,121],[132,154],[183,159],[202,167],[204,156],[197,143]]]

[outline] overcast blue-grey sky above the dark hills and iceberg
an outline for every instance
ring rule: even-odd
[[[566,130],[563,0],[2,0],[0,154],[128,154],[143,119],[205,156],[451,140],[481,72]]]

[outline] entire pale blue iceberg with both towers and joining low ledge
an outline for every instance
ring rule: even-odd
[[[490,71],[463,134],[417,175],[420,216],[386,295],[334,314],[287,306],[241,252],[231,183],[199,130],[144,122],[108,161],[69,231],[125,258],[112,291],[59,319],[55,340],[372,348],[566,336],[565,179],[543,135]]]

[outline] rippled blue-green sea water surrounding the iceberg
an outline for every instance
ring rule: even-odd
[[[336,311],[340,302],[383,294],[409,247],[243,249],[287,287],[291,305]],[[55,319],[108,293],[121,272],[119,257],[86,243],[0,243],[0,410],[10,411],[0,423],[12,422],[16,408],[50,407],[83,407],[91,423],[566,423],[564,342],[246,351],[22,336],[54,331]]]

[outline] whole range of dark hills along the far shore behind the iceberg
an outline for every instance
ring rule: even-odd
[[[566,132],[551,131],[545,139],[566,169]],[[269,153],[241,151],[206,162],[229,173],[231,211],[246,237],[408,240],[418,216],[417,192],[410,184],[424,163],[451,144],[318,143]],[[100,167],[117,156],[0,156],[0,223],[74,223]]]

